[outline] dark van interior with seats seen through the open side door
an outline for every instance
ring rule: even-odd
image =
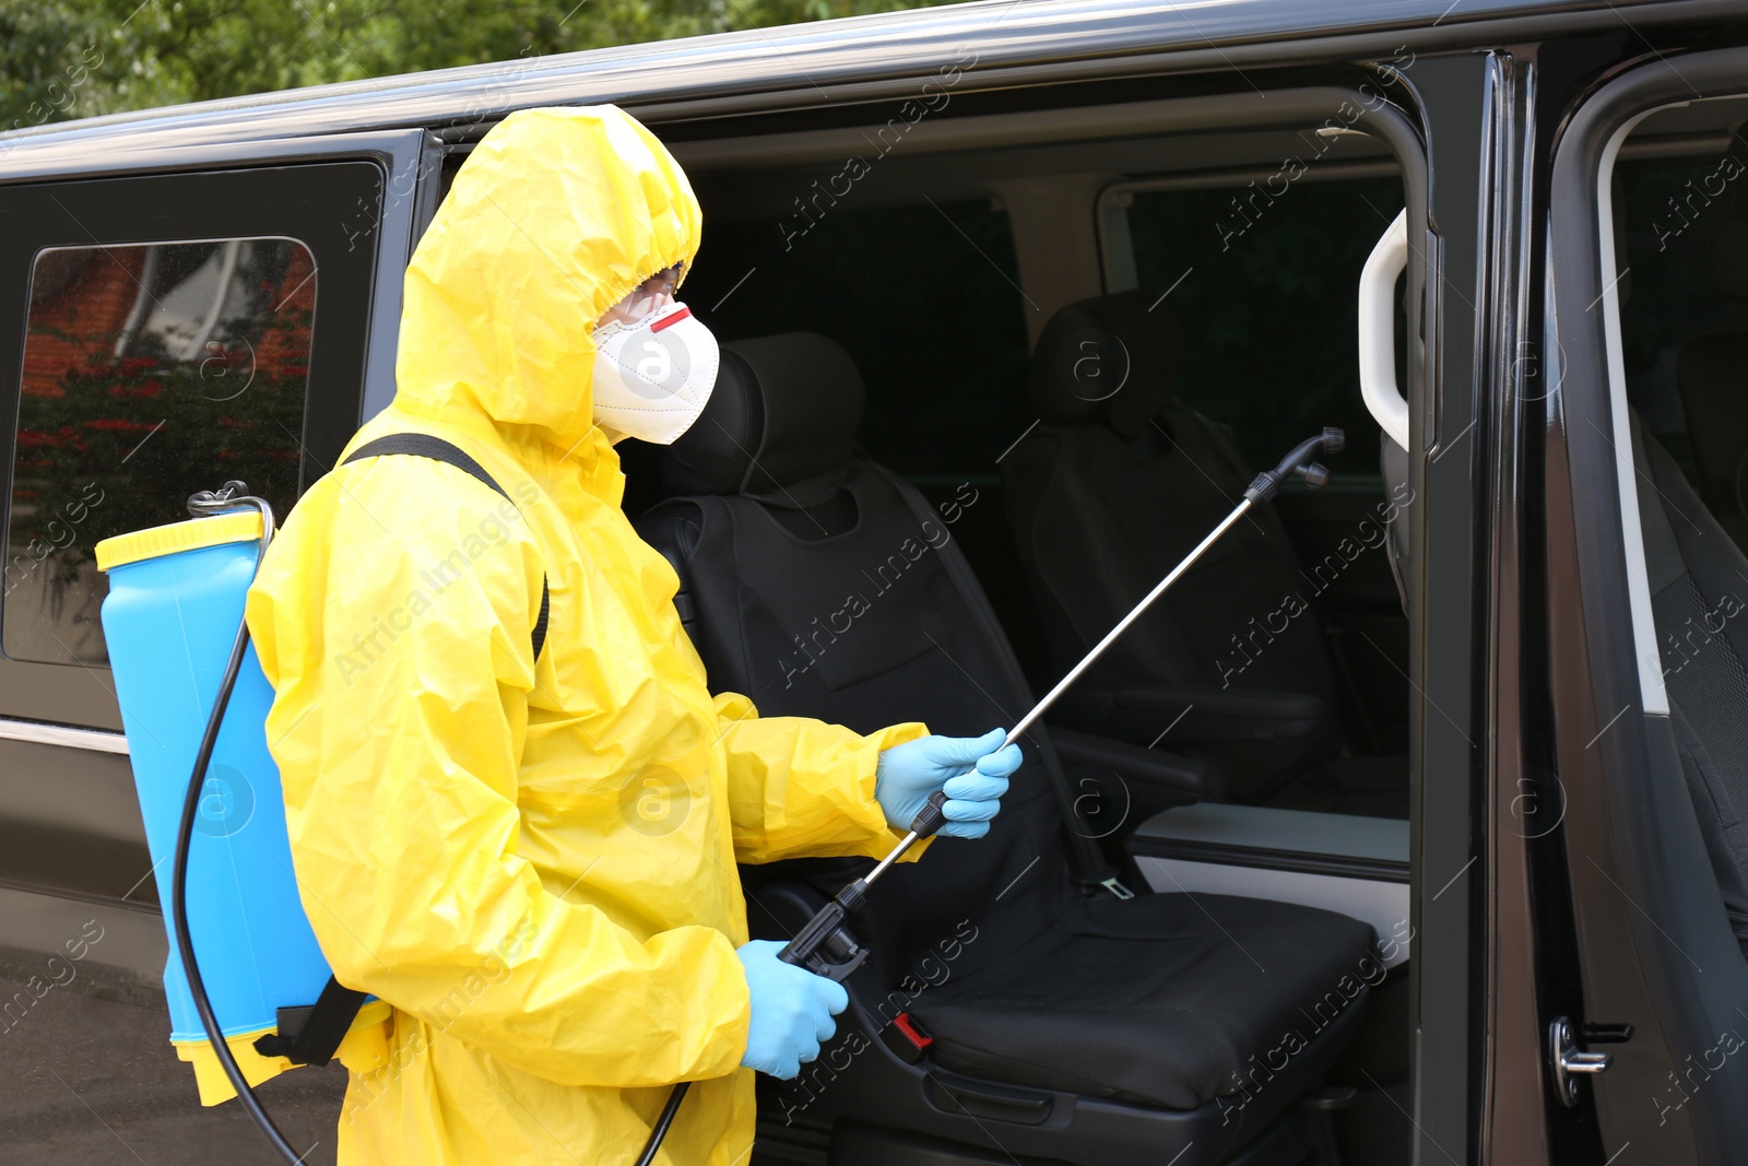
[[[621,446],[626,510],[766,715],[1012,725],[1257,470],[1346,435],[1026,736],[989,837],[883,879],[858,1023],[760,1082],[760,1157],[1407,1159],[1412,495],[1355,355],[1405,198],[1334,108],[668,136],[724,360],[675,446]],[[865,869],[743,869],[753,932]]]

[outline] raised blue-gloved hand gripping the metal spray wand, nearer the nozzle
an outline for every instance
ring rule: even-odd
[[[874,799],[886,811],[886,825],[909,830],[911,822],[928,804],[935,790],[947,792],[940,808],[947,825],[944,837],[982,837],[989,818],[1002,809],[1007,776],[1019,769],[1019,746],[1000,752],[1005,729],[991,729],[981,738],[928,736],[881,750],[874,767]]]

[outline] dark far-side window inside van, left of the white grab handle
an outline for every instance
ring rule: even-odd
[[[1358,287],[1365,257],[1402,210],[1402,182],[1297,182],[1245,210],[1225,187],[1133,199],[1140,287],[1183,325],[1178,395],[1231,427],[1253,468],[1339,425],[1348,432],[1339,468],[1376,472],[1377,423],[1360,400]]]

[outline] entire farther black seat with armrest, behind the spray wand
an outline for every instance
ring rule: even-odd
[[[1140,292],[1070,304],[1038,337],[1042,423],[1002,474],[1058,673],[1253,477],[1229,435],[1175,399],[1176,350],[1176,323]],[[1211,762],[1220,801],[1407,816],[1405,759],[1337,757],[1335,668],[1308,593],[1280,517],[1257,507],[1099,661],[1059,724],[1138,743],[1171,725],[1175,748]]]

